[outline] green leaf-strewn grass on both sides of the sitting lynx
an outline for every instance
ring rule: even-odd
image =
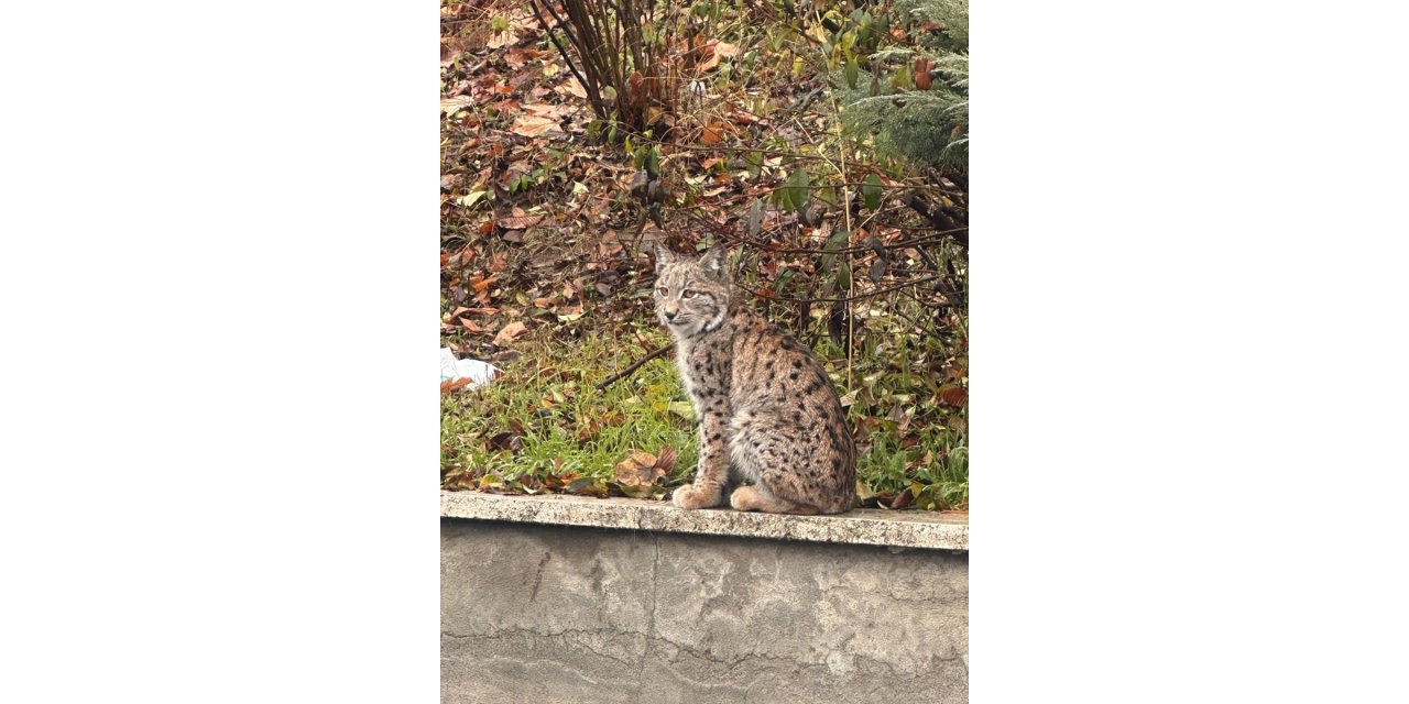
[[[876,325],[872,321],[872,325]],[[647,328],[648,329],[648,328]],[[573,493],[665,498],[693,477],[693,410],[672,358],[651,360],[604,390],[595,386],[669,341],[547,334],[516,342],[520,358],[480,389],[441,397],[441,486],[499,493]],[[892,335],[858,341],[847,383],[845,356],[814,342],[858,427],[862,505],[968,508],[967,404],[947,407],[940,344]],[[635,452],[669,448],[678,462],[647,487],[616,482]]]

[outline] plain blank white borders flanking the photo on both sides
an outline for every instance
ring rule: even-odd
[[[1405,697],[1392,13],[974,1],[972,701]],[[437,18],[6,11],[0,698],[438,698]]]

